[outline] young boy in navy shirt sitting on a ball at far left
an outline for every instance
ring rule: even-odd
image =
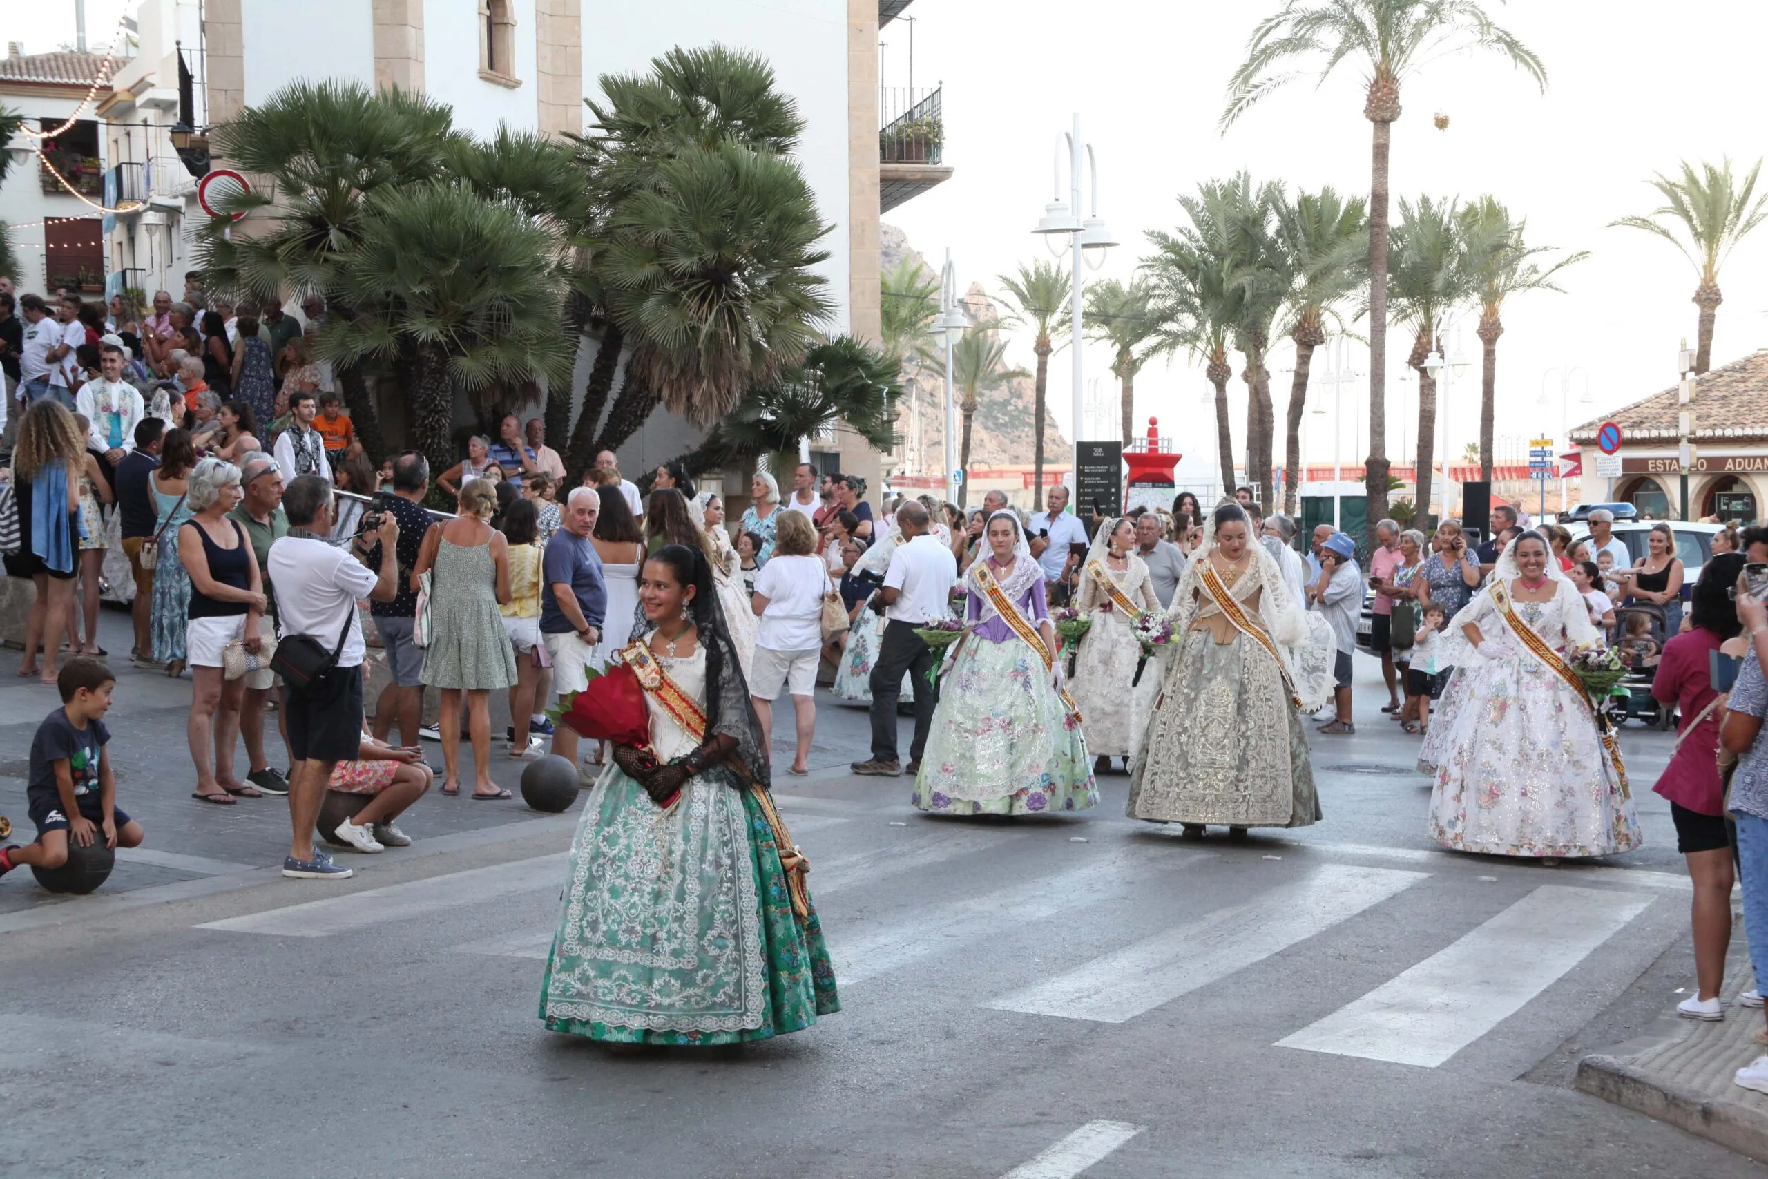
[[[0,875],[25,864],[60,868],[67,863],[67,840],[90,847],[136,847],[141,824],[117,806],[117,778],[104,744],[117,677],[97,659],[74,658],[55,681],[62,707],[42,718],[30,742],[30,820],[37,841],[0,847]]]

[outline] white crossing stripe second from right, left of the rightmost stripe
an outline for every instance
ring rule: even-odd
[[[1123,1023],[1322,933],[1429,875],[1322,864],[1296,884],[1220,909],[981,1006]]]

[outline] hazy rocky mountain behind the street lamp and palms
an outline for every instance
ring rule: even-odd
[[[880,246],[884,251],[884,270],[891,270],[903,258],[919,263],[923,272],[937,276],[939,270],[909,244],[909,237],[893,224],[880,226]],[[981,283],[971,283],[964,299],[965,315],[972,323],[999,323],[1001,308],[994,302]],[[1031,352],[1031,339],[1018,332],[1008,348],[1008,364],[1031,371],[1038,357]],[[1063,368],[1066,373],[1066,368]],[[896,431],[909,440],[911,460],[923,470],[934,472],[942,465],[942,422],[946,401],[944,364],[903,364],[903,399],[902,419]],[[1066,385],[1064,385],[1066,389]],[[1057,391],[1061,392],[1061,391]],[[960,394],[962,396],[962,394]],[[1031,377],[1015,377],[999,389],[976,394],[976,419],[971,426],[971,467],[1002,467],[1008,463],[1033,461],[1033,410],[1036,408],[1036,387]],[[914,430],[919,421],[919,431]],[[960,422],[962,428],[962,422]],[[1070,458],[1070,442],[1055,428],[1055,419],[1048,415],[1045,405],[1043,460],[1052,463]]]

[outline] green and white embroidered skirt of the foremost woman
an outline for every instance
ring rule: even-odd
[[[555,1032],[732,1045],[840,1011],[815,909],[792,914],[760,804],[713,769],[663,811],[610,765],[571,843],[564,912],[541,981]]]

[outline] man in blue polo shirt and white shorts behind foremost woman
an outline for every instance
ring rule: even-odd
[[[608,613],[601,555],[589,539],[599,507],[594,488],[573,488],[541,559],[541,638],[553,663],[553,691],[560,704],[589,688],[589,668]],[[576,765],[575,728],[553,728],[553,753]]]

